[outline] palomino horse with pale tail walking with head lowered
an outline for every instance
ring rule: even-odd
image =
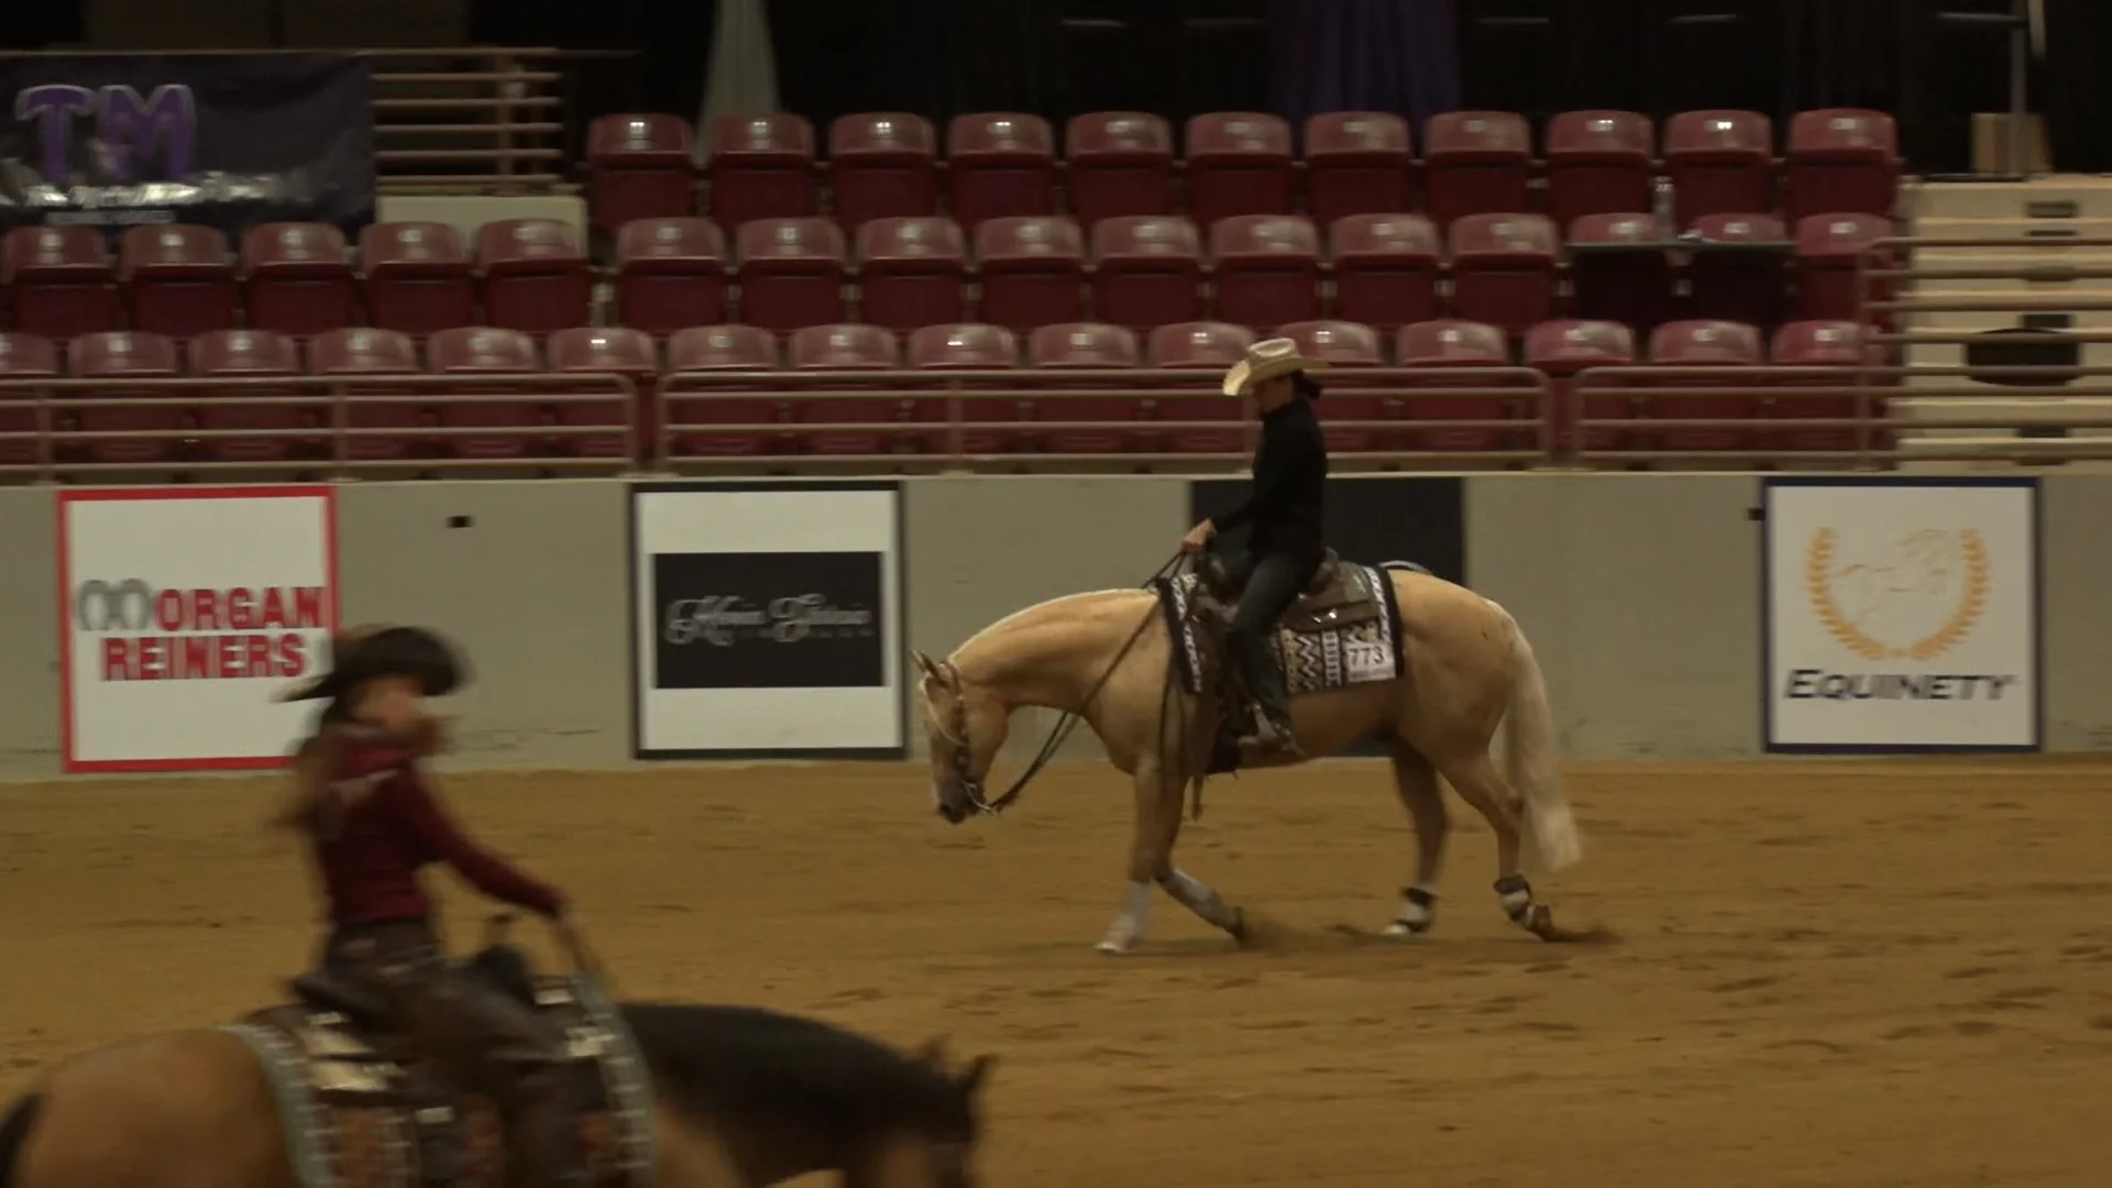
[[[1143,939],[1153,884],[1246,941],[1246,915],[1172,862],[1183,788],[1195,784],[1200,797],[1204,776],[1231,769],[1219,746],[1229,698],[1208,679],[1221,668],[1210,641],[1227,600],[1229,592],[1210,592],[1195,575],[1153,579],[1151,590],[1039,602],[991,624],[946,660],[914,653],[934,799],[948,822],[1005,808],[1033,776],[1029,769],[1005,797],[984,799],[982,780],[1020,706],[1077,714],[1134,780],[1130,881],[1100,951],[1121,953]],[[1402,892],[1390,936],[1419,934],[1434,920],[1451,829],[1442,776],[1495,831],[1495,892],[1510,920],[1548,941],[1569,939],[1525,879],[1525,869],[1576,862],[1582,843],[1557,778],[1546,683],[1508,611],[1415,567],[1343,564],[1331,554],[1280,621],[1278,649],[1307,757],[1337,755],[1364,738],[1390,748],[1394,786],[1417,833],[1415,886]],[[1489,748],[1506,717],[1500,772]],[[1261,765],[1278,763],[1284,759]]]

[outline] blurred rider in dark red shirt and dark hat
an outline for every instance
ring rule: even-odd
[[[448,962],[418,881],[446,862],[488,896],[564,917],[562,892],[465,837],[427,786],[420,759],[444,731],[425,700],[452,693],[463,666],[433,632],[401,626],[344,632],[334,653],[329,672],[281,693],[329,702],[296,753],[296,797],[281,816],[310,841],[329,896],[323,964],[372,994],[458,1089],[496,1103],[515,1186],[587,1184],[558,1038]]]

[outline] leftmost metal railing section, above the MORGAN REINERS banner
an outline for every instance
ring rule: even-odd
[[[0,476],[623,474],[640,404],[629,376],[600,372],[0,378]]]

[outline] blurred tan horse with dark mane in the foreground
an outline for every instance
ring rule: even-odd
[[[591,1180],[762,1188],[841,1171],[845,1188],[969,1188],[988,1057],[908,1057],[746,1006],[625,1004],[589,977],[534,979],[517,949],[471,966],[568,1038]],[[0,1120],[0,1188],[496,1186],[482,1097],[416,1080],[386,1036],[315,1002],[232,1027],[165,1032],[49,1072]],[[384,1055],[386,1053],[386,1055]]]

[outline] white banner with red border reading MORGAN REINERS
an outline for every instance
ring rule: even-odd
[[[279,767],[329,660],[329,486],[59,490],[65,772]]]

